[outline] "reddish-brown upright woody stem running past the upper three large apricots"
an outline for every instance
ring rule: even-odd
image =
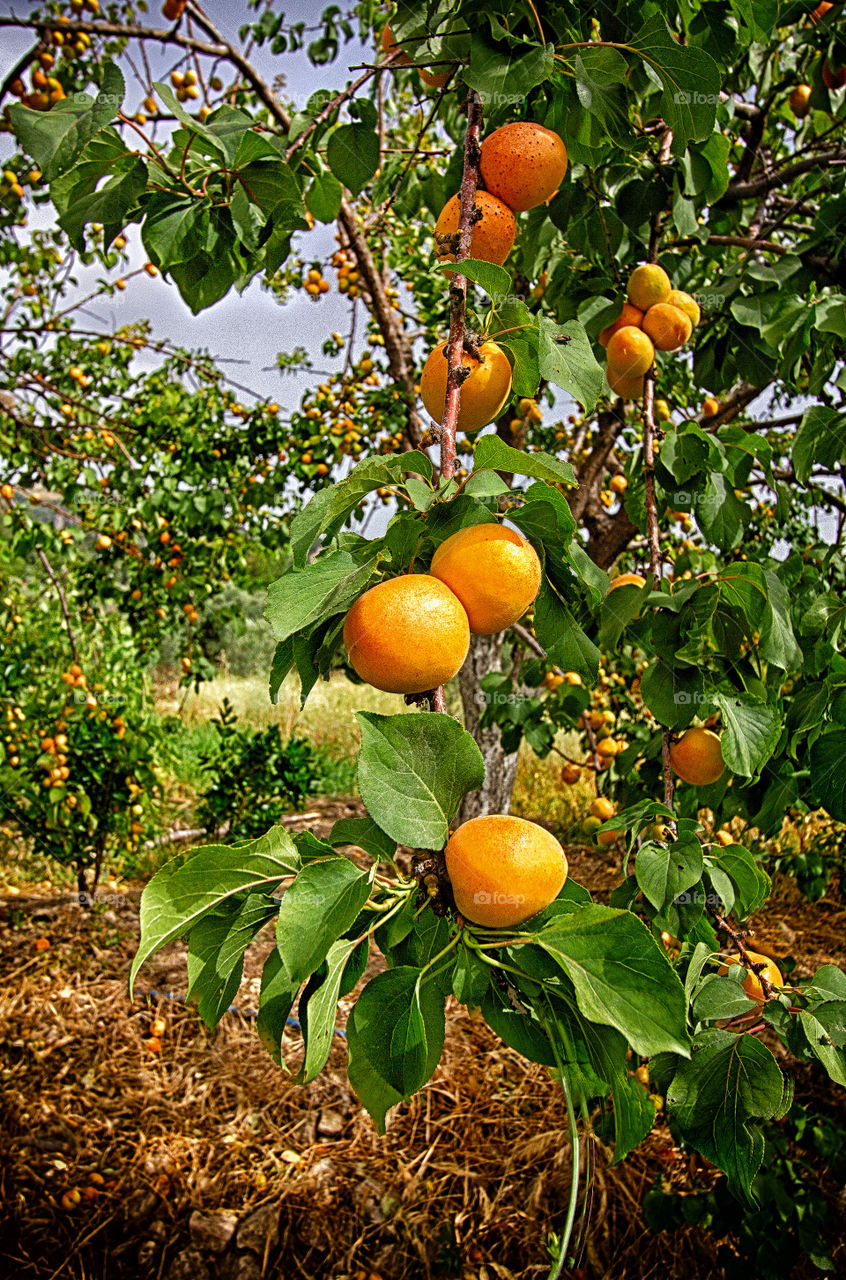
[[[481,133],[481,100],[475,90],[467,100],[467,132],[465,133],[465,169],[461,178],[461,197],[458,215],[458,243],[456,261],[470,257],[474,214],[476,212],[476,188],[479,187],[479,138]],[[444,416],[440,425],[440,475],[449,480],[456,471],[456,431],[458,429],[458,404],[461,384],[465,375],[462,361],[467,338],[467,279],[456,273],[449,283],[449,340],[444,352],[448,364],[447,394],[444,397]],[[431,695],[431,709],[445,712],[444,689],[440,685]]]

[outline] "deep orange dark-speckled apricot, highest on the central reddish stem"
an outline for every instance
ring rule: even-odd
[[[567,148],[552,129],[518,120],[488,134],[479,164],[488,191],[522,212],[558,191],[567,173]]]

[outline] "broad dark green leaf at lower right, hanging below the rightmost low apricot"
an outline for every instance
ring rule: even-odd
[[[774,1119],[783,1096],[782,1073],[765,1044],[714,1028],[694,1041],[667,1103],[685,1140],[723,1170],[736,1196],[754,1203],[753,1183],[764,1157],[755,1121]]]

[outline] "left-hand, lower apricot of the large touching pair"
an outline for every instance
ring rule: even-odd
[[[470,626],[461,602],[429,573],[392,577],[365,591],[344,621],[355,671],[388,694],[444,685],[467,657]]]

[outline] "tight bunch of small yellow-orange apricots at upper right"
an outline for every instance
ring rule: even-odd
[[[636,266],[628,278],[627,301],[619,316],[599,334],[605,348],[605,378],[623,399],[640,399],[644,376],[655,351],[678,351],[699,324],[699,305],[690,293],[673,289],[655,262]]]

